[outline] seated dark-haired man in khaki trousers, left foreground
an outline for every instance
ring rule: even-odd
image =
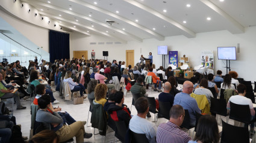
[[[45,129],[54,130],[60,137],[60,142],[67,141],[70,138],[73,138],[73,136],[76,137],[76,142],[84,142],[84,138],[92,137],[92,133],[85,132],[84,124],[81,121],[76,121],[69,126],[63,124],[63,120],[60,115],[52,108],[49,96],[40,97],[38,99],[38,104],[40,109],[37,111],[36,121],[43,123],[43,127],[45,127]]]

